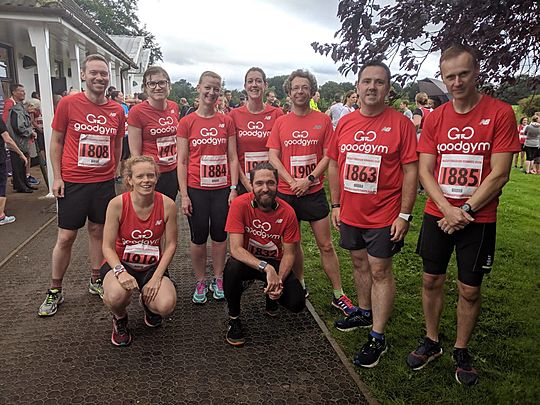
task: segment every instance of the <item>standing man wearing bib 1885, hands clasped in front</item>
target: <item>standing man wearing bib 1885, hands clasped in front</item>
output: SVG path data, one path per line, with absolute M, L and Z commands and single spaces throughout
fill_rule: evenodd
M 439 321 L 446 269 L 455 249 L 455 378 L 474 385 L 478 374 L 467 344 L 480 313 L 482 278 L 493 265 L 498 197 L 520 145 L 512 108 L 476 90 L 479 63 L 472 48 L 455 45 L 445 50 L 440 70 L 453 100 L 426 118 L 418 143 L 419 177 L 429 196 L 417 246 L 424 265 L 426 337 L 407 364 L 419 370 L 442 355 Z

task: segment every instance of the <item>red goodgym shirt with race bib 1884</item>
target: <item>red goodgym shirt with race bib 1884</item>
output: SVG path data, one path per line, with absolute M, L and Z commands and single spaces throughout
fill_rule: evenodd
M 234 123 L 228 115 L 204 118 L 189 114 L 178 123 L 179 138 L 189 141 L 189 187 L 215 190 L 231 185 L 227 159 L 228 141 L 234 134 Z

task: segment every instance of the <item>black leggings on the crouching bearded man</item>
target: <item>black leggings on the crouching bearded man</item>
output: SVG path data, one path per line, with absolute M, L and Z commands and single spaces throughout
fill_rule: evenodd
M 268 263 L 279 273 L 278 261 L 268 260 Z M 223 274 L 223 290 L 225 291 L 230 316 L 236 317 L 240 315 L 240 300 L 244 292 L 243 281 L 246 280 L 261 280 L 266 285 L 266 273 L 252 269 L 246 264 L 230 257 L 225 264 L 225 272 Z M 266 300 L 270 300 L 268 295 L 266 295 Z M 306 306 L 304 289 L 292 271 L 283 283 L 283 294 L 281 294 L 278 302 L 291 312 L 300 312 Z

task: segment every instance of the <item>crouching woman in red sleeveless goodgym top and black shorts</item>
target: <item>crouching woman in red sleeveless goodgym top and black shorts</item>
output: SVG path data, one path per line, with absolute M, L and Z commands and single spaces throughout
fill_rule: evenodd
M 167 266 L 176 251 L 176 205 L 155 191 L 159 168 L 149 156 L 129 158 L 124 181 L 130 191 L 109 203 L 103 231 L 103 302 L 113 314 L 111 342 L 131 343 L 127 306 L 141 292 L 144 322 L 155 328 L 176 305 Z

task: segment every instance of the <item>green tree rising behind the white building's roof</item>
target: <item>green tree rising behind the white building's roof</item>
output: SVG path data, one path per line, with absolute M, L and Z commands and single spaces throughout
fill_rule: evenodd
M 95 23 L 109 35 L 144 36 L 145 49 L 150 49 L 150 64 L 163 60 L 156 37 L 141 24 L 137 16 L 137 0 L 75 0 Z

